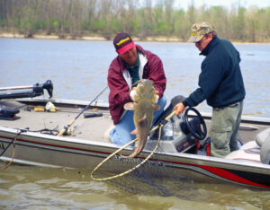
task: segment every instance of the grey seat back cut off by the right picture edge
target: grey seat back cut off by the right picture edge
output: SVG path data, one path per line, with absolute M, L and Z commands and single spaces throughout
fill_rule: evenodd
M 261 162 L 269 165 L 270 164 L 270 128 L 267 128 L 261 133 L 263 133 L 262 137 L 264 138 L 262 138 L 263 141 L 261 144 L 260 158 L 261 158 Z

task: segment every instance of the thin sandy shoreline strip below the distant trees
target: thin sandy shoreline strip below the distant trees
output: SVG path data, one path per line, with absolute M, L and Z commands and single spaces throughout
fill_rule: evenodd
M 34 34 L 31 38 L 25 37 L 23 34 L 19 33 L 0 33 L 0 38 L 8 38 L 8 39 L 58 39 L 58 40 L 92 40 L 92 41 L 112 41 L 112 39 L 105 39 L 101 36 L 83 36 L 81 38 L 72 38 L 71 36 L 65 36 L 65 38 L 61 39 L 58 35 L 44 35 L 44 34 Z M 179 39 L 176 37 L 147 37 L 146 39 L 139 39 L 138 37 L 132 37 L 134 41 L 141 41 L 141 42 L 181 42 L 187 43 L 183 39 Z M 269 41 L 239 41 L 239 40 L 230 40 L 233 43 L 253 43 L 253 44 L 267 44 Z

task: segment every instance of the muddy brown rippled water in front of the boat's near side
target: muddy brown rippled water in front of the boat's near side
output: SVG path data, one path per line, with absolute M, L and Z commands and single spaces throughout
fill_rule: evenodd
M 4 164 L 0 164 L 1 168 Z M 1 209 L 267 209 L 269 191 L 181 183 L 172 195 L 129 193 L 90 179 L 90 171 L 12 165 L 0 176 Z M 160 181 L 159 188 L 171 185 Z M 178 192 L 177 192 L 178 190 Z M 175 193 L 174 193 L 175 191 Z

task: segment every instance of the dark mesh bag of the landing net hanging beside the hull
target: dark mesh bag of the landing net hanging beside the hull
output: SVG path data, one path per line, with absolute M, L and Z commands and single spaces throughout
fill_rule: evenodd
M 117 155 L 117 162 L 114 162 L 116 160 L 114 158 L 104 162 L 101 168 L 94 173 L 94 177 L 106 179 L 115 176 L 104 182 L 110 187 L 132 195 L 179 197 L 184 200 L 193 200 L 194 197 L 197 197 L 196 200 L 199 200 L 200 193 L 194 185 L 193 178 L 167 167 L 164 162 L 159 161 L 164 158 L 163 152 L 162 148 L 158 146 L 156 152 L 143 164 L 140 163 L 145 159 L 125 158 Z M 138 165 L 139 167 L 135 170 L 118 176 L 127 169 Z M 110 168 L 117 170 L 118 173 L 103 172 Z

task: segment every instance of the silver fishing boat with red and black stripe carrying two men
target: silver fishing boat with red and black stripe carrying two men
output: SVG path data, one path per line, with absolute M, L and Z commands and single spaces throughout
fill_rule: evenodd
M 225 158 L 211 157 L 211 144 L 205 141 L 210 114 L 186 109 L 184 114 L 165 118 L 175 101 L 182 99 L 178 96 L 157 119 L 157 129 L 152 129 L 144 150 L 135 158 L 126 158 L 132 145 L 115 153 L 121 146 L 108 138 L 112 118 L 107 103 L 98 97 L 90 103 L 52 99 L 52 90 L 50 81 L 0 89 L 2 162 L 93 171 L 111 155 L 110 167 L 97 171 L 119 174 L 148 158 L 144 164 L 150 172 L 158 170 L 156 177 L 186 176 L 194 182 L 270 189 L 270 118 L 243 116 L 239 150 Z

